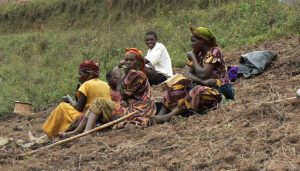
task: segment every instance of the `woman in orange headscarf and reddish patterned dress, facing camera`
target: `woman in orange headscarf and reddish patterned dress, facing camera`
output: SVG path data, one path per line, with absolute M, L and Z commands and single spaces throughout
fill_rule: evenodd
M 95 127 L 96 121 L 108 123 L 131 112 L 138 112 L 130 119 L 119 123 L 116 128 L 122 128 L 126 124 L 136 126 L 148 126 L 150 117 L 156 112 L 154 101 L 151 99 L 150 84 L 144 73 L 145 63 L 141 51 L 130 48 L 126 49 L 124 58 L 125 74 L 121 78 L 119 69 L 114 70 L 118 80 L 117 90 L 122 95 L 122 102 L 116 103 L 105 98 L 97 98 L 86 112 L 80 125 L 72 132 L 62 135 L 70 136 L 80 133 L 83 129 L 88 131 Z

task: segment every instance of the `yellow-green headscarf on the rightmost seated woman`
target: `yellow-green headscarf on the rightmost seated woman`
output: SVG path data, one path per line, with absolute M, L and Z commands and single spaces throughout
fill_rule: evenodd
M 197 37 L 204 39 L 207 43 L 211 44 L 212 46 L 215 46 L 215 47 L 218 46 L 214 33 L 211 30 L 209 30 L 208 28 L 206 28 L 206 27 L 195 28 L 195 27 L 191 26 L 190 30 Z

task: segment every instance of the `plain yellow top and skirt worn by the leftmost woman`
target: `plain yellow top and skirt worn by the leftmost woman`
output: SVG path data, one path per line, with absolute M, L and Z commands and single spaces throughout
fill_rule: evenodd
M 78 92 L 87 97 L 83 112 L 89 108 L 90 104 L 97 97 L 111 99 L 109 85 L 98 78 L 84 82 L 78 89 Z M 57 136 L 59 132 L 66 131 L 81 114 L 82 112 L 77 111 L 69 103 L 62 102 L 51 112 L 43 125 L 43 131 L 49 138 Z

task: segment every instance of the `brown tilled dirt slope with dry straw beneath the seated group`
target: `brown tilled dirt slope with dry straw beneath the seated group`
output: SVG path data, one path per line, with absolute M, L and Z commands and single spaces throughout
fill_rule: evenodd
M 236 100 L 207 115 L 95 133 L 22 160 L 11 144 L 0 150 L 0 170 L 300 170 L 300 105 L 265 103 L 300 88 L 299 45 L 300 37 L 287 37 L 226 53 L 230 64 L 254 50 L 278 58 L 262 75 L 236 82 Z M 49 112 L 2 118 L 0 136 L 26 140 Z

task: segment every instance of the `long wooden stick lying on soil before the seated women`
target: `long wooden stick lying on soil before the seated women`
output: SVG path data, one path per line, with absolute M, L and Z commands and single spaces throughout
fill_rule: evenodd
M 116 119 L 116 120 L 114 120 L 114 121 L 111 121 L 111 122 L 109 122 L 109 123 L 106 123 L 106 124 L 104 124 L 104 125 L 101 125 L 101 126 L 99 126 L 99 127 L 96 127 L 96 128 L 94 128 L 94 129 L 91 129 L 91 130 L 89 130 L 89 131 L 83 132 L 83 133 L 81 133 L 81 134 L 75 135 L 75 136 L 73 136 L 73 137 L 70 137 L 70 138 L 67 138 L 67 139 L 64 139 L 64 140 L 61 140 L 61 141 L 57 141 L 56 143 L 50 144 L 50 145 L 45 146 L 45 147 L 42 147 L 42 148 L 40 148 L 40 149 L 33 150 L 33 151 L 29 152 L 29 153 L 25 153 L 25 154 L 23 154 L 23 155 L 21 155 L 21 156 L 31 155 L 31 154 L 34 154 L 34 153 L 36 153 L 36 152 L 38 152 L 38 151 L 42 151 L 42 150 L 45 150 L 45 149 L 48 149 L 48 148 L 51 148 L 51 147 L 54 147 L 54 146 L 57 146 L 57 145 L 60 145 L 60 144 L 63 144 L 63 143 L 72 141 L 72 140 L 75 140 L 75 139 L 77 139 L 77 138 L 83 137 L 83 136 L 85 136 L 85 135 L 87 135 L 87 134 L 90 134 L 90 133 L 92 133 L 92 132 L 102 130 L 102 129 L 104 129 L 104 128 L 107 128 L 107 127 L 110 127 L 110 126 L 112 126 L 112 125 L 115 125 L 115 124 L 117 124 L 117 123 L 119 123 L 119 122 L 122 122 L 122 121 L 124 121 L 124 120 L 130 118 L 131 116 L 133 116 L 134 114 L 137 114 L 137 113 L 138 113 L 138 111 L 131 112 L 131 113 L 129 113 L 129 114 L 127 114 L 127 115 L 125 115 L 125 116 L 119 118 L 119 119 Z

